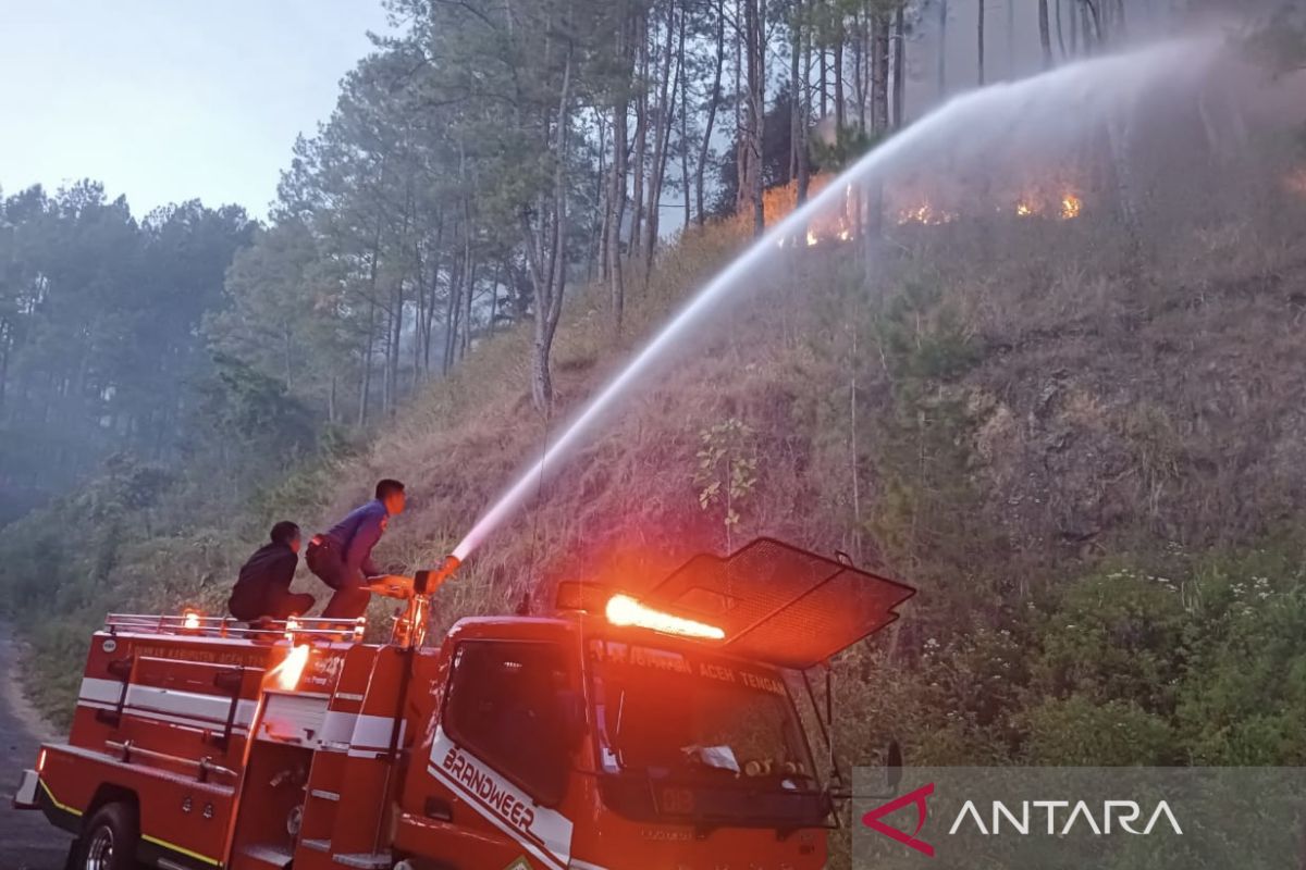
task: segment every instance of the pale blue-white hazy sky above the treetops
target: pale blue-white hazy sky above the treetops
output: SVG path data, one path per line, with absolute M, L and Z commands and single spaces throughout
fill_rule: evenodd
M 266 214 L 380 0 L 0 0 L 0 189 L 103 181 L 132 211 Z

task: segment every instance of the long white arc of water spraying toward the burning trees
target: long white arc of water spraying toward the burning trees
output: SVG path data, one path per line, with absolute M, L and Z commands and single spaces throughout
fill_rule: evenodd
M 835 179 L 815 198 L 763 235 L 743 254 L 713 278 L 662 330 L 635 356 L 633 360 L 613 378 L 575 416 L 563 434 L 528 467 L 503 496 L 477 520 L 471 531 L 453 549 L 453 554 L 440 569 L 441 579 L 451 575 L 477 547 L 507 517 L 537 492 L 539 481 L 549 475 L 558 460 L 564 457 L 580 438 L 589 432 L 601 415 L 622 397 L 631 385 L 646 374 L 674 343 L 684 338 L 692 326 L 717 305 L 750 286 L 741 280 L 761 263 L 768 256 L 781 249 L 785 240 L 803 232 L 804 226 L 823 209 L 838 205 L 853 184 L 865 181 L 865 176 L 892 167 L 893 163 L 913 151 L 926 150 L 940 141 L 949 147 L 965 149 L 976 155 L 982 149 L 994 145 L 991 138 L 1011 141 L 1012 134 L 1021 133 L 1021 123 L 1027 125 L 1032 116 L 1042 129 L 1028 129 L 1028 136 L 1045 134 L 1046 128 L 1062 117 L 1062 123 L 1077 125 L 1080 132 L 1084 119 L 1109 116 L 1122 107 L 1132 106 L 1132 99 L 1161 76 L 1173 77 L 1175 69 L 1192 74 L 1199 67 L 1195 57 L 1211 55 L 1212 46 L 1218 40 L 1175 40 L 1123 55 L 1096 57 L 1077 64 L 1027 78 L 1013 83 L 998 83 L 955 98 L 939 110 L 921 119 L 893 138 L 865 155 L 852 168 Z M 1199 53 L 1200 52 L 1200 53 Z M 1067 106 L 1070 103 L 1070 106 Z M 1037 112 L 1038 108 L 1057 110 Z M 986 138 L 977 130 L 991 129 L 993 137 Z

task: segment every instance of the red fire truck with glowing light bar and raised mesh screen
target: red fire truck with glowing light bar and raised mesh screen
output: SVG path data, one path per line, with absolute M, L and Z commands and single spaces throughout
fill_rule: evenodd
M 440 579 L 379 584 L 407 600 L 385 644 L 353 622 L 110 616 L 69 740 L 16 803 L 76 836 L 77 870 L 824 865 L 808 670 L 913 590 L 764 539 L 637 595 L 563 583 L 555 616 L 427 646 Z

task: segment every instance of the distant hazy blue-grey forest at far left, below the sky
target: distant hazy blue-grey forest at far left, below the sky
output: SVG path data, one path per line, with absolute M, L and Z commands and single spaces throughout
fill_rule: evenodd
M 0 523 L 115 454 L 195 447 L 200 326 L 252 235 L 197 202 L 137 220 L 91 183 L 0 200 Z

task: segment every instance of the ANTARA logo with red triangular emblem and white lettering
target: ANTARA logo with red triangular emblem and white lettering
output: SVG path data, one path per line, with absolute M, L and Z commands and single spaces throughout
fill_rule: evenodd
M 929 783 L 914 792 L 883 803 L 865 814 L 862 824 L 909 849 L 934 857 L 934 847 L 921 839 L 921 830 L 925 828 L 930 813 L 929 798 L 934 794 L 934 789 L 935 784 Z M 1094 813 L 1096 805 L 1089 806 L 1087 801 L 1021 801 L 1019 805 L 989 801 L 987 803 L 987 813 L 982 813 L 976 801 L 968 800 L 963 803 L 948 828 L 948 836 L 964 831 L 974 831 L 983 836 L 1000 833 L 1030 836 L 1043 832 L 1049 836 L 1066 836 L 1075 831 L 1091 831 L 1094 835 L 1105 836 L 1123 831 L 1141 836 L 1152 833 L 1158 827 L 1169 828 L 1175 835 L 1183 836 L 1178 818 L 1165 801 L 1160 801 L 1148 814 L 1144 814 L 1144 807 L 1136 801 L 1102 801 L 1100 813 Z M 916 828 L 912 833 L 883 822 L 884 817 L 908 806 L 916 809 Z M 1145 823 L 1141 823 L 1143 818 L 1147 818 Z

